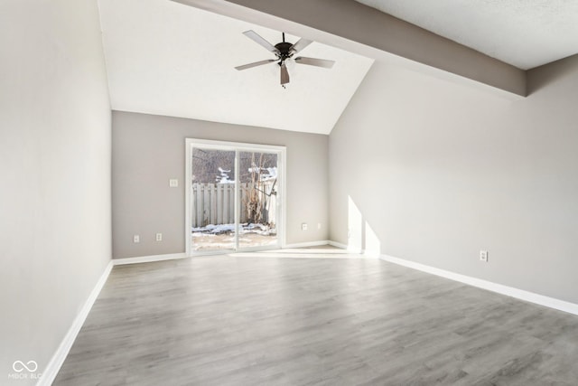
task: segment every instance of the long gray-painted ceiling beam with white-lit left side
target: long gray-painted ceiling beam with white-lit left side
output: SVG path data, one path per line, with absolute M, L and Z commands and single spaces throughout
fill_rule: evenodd
M 508 94 L 527 95 L 526 71 L 353 0 L 173 1 L 377 60 L 406 59 Z

